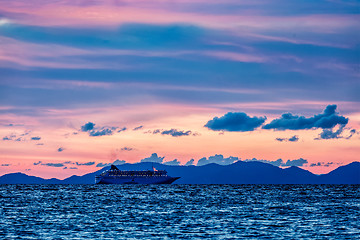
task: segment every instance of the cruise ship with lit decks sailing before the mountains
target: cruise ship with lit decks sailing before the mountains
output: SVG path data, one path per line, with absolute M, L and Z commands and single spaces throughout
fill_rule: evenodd
M 115 165 L 95 176 L 96 184 L 171 184 L 180 177 L 170 177 L 165 170 L 123 171 Z

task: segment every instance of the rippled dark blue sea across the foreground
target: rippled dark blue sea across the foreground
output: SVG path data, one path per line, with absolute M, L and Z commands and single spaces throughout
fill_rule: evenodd
M 359 185 L 0 185 L 0 238 L 358 239 Z

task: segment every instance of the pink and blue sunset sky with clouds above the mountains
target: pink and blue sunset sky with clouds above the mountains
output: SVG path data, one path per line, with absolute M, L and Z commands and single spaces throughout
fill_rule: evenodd
M 0 0 L 0 175 L 360 161 L 360 1 Z

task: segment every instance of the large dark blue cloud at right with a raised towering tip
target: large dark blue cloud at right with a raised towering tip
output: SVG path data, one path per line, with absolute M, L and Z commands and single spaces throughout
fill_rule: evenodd
M 306 118 L 304 116 L 284 113 L 280 118 L 272 120 L 264 125 L 263 129 L 275 130 L 304 130 L 312 128 L 328 129 L 336 125 L 346 125 L 348 118 L 340 116 L 336 111 L 336 105 L 328 105 L 323 113 Z

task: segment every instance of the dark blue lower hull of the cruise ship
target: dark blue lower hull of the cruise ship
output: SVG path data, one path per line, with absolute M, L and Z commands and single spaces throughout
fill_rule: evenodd
M 96 176 L 96 184 L 171 184 L 179 177 L 113 177 Z

